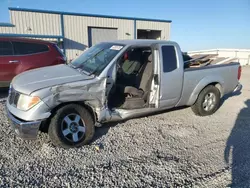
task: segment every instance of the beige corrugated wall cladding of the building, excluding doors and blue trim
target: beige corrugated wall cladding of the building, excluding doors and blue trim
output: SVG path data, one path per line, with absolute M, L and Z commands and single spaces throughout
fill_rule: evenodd
M 26 35 L 62 36 L 60 12 L 36 12 L 11 10 L 11 23 L 14 27 L 0 26 L 0 33 Z M 85 15 L 63 14 L 64 47 L 68 59 L 80 55 L 89 45 L 88 27 L 117 29 L 118 39 L 134 39 L 134 19 L 92 17 Z M 136 21 L 136 29 L 161 31 L 161 39 L 169 39 L 170 23 Z M 137 32 L 137 31 L 136 31 Z M 46 40 L 46 39 L 44 39 Z

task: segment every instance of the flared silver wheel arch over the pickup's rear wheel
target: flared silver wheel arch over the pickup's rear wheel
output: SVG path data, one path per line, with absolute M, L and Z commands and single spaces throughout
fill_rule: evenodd
M 189 97 L 187 105 L 193 105 L 198 98 L 200 92 L 208 85 L 214 84 L 223 96 L 224 93 L 224 80 L 221 76 L 206 76 L 199 81 L 199 83 L 194 88 L 192 94 Z

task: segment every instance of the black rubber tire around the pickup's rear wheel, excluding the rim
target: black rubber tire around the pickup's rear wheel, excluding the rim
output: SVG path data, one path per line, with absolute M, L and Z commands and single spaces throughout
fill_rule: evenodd
M 205 102 L 205 97 L 211 93 L 215 95 L 214 106 L 211 107 L 211 109 L 209 110 L 205 110 L 205 108 L 203 107 L 203 103 Z M 215 86 L 209 85 L 200 92 L 196 102 L 192 105 L 191 109 L 198 116 L 209 116 L 215 113 L 218 110 L 219 106 L 220 106 L 220 91 Z

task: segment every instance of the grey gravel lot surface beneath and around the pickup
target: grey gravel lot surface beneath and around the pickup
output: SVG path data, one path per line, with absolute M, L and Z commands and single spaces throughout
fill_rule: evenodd
M 250 187 L 248 75 L 244 67 L 242 93 L 225 97 L 210 117 L 185 108 L 133 119 L 97 128 L 92 144 L 70 150 L 55 148 L 45 133 L 35 141 L 14 136 L 0 102 L 0 185 Z

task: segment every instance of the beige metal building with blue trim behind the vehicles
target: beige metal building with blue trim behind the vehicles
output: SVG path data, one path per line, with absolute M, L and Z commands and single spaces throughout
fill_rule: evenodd
M 68 59 L 106 40 L 170 37 L 170 20 L 9 8 L 10 24 L 0 23 L 0 36 L 32 37 L 59 43 Z

